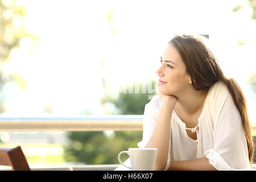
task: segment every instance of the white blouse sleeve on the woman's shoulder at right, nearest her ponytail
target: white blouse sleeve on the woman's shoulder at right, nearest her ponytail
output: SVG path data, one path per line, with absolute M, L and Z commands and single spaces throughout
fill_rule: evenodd
M 214 147 L 204 156 L 217 170 L 251 169 L 241 115 L 231 94 L 222 90 L 213 103 Z

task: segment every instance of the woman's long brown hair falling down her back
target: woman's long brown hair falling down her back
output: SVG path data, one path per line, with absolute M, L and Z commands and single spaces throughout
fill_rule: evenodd
M 227 86 L 242 118 L 251 163 L 254 146 L 245 96 L 240 85 L 233 78 L 226 78 L 222 73 L 216 58 L 203 40 L 203 37 L 200 38 L 198 35 L 175 35 L 168 44 L 172 44 L 179 51 L 185 63 L 186 71 L 191 76 L 192 85 L 196 90 L 208 90 L 210 86 L 220 80 Z

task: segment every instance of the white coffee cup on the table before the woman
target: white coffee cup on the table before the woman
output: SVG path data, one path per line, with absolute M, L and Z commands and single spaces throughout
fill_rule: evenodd
M 122 151 L 118 154 L 119 163 L 132 169 L 133 171 L 153 171 L 155 168 L 157 148 L 129 148 L 128 151 Z M 126 153 L 130 156 L 131 167 L 126 166 L 120 159 L 120 156 Z

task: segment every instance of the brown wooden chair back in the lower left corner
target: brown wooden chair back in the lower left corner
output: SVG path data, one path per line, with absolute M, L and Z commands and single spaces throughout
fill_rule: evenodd
M 14 171 L 31 170 L 20 146 L 15 148 L 0 147 L 0 165 L 11 166 Z

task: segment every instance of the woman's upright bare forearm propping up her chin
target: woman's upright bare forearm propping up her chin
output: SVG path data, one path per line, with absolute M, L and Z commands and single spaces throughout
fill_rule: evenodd
M 170 122 L 172 110 L 176 104 L 175 98 L 164 99 L 159 112 L 158 122 L 148 141 L 147 148 L 158 148 L 155 170 L 163 170 L 168 158 Z

